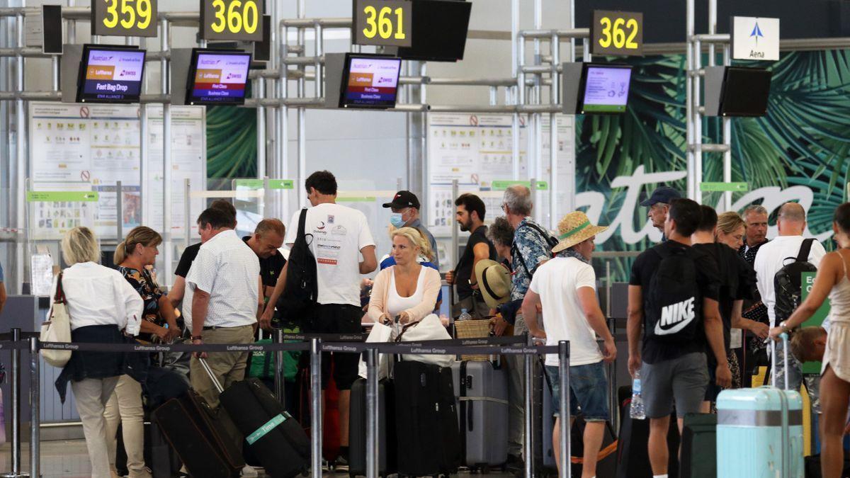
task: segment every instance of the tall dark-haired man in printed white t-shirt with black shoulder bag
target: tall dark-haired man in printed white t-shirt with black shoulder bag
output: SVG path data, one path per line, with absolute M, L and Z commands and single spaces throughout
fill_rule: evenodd
M 310 174 L 304 187 L 313 207 L 294 213 L 286 228 L 285 242 L 292 250 L 269 304 L 276 304 L 285 320 L 303 319 L 309 333 L 360 333 L 361 275 L 377 269 L 375 241 L 365 214 L 337 204 L 337 179 L 329 171 Z M 290 270 L 297 280 L 289 276 Z M 263 327 L 269 327 L 271 309 L 263 313 Z M 321 359 L 322 390 L 330 382 L 331 361 L 339 389 L 337 466 L 348 466 L 348 407 L 358 358 L 323 353 Z

